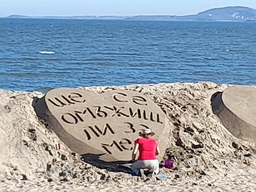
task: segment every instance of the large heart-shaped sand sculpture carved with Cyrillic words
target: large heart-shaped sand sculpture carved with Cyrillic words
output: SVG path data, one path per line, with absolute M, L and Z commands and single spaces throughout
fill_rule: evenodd
M 90 158 L 130 160 L 134 140 L 145 128 L 155 132 L 162 156 L 168 147 L 166 115 L 137 91 L 53 89 L 36 102 L 35 110 L 69 148 Z

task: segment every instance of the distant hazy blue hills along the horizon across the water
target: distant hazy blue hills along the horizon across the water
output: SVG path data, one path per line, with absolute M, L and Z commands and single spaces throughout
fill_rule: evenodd
M 136 15 L 136 16 L 24 16 L 10 15 L 7 18 L 44 19 L 129 19 L 129 20 L 205 20 L 205 21 L 256 21 L 256 10 L 250 7 L 222 7 L 199 12 L 196 15 Z

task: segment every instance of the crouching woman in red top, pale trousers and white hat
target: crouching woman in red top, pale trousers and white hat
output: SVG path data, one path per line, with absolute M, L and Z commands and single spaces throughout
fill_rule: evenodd
M 131 170 L 137 175 L 142 171 L 143 168 L 154 169 L 154 173 L 159 173 L 159 162 L 156 158 L 156 155 L 159 155 L 159 146 L 158 142 L 154 139 L 151 139 L 151 136 L 155 135 L 150 129 L 143 130 L 139 133 L 139 138 L 135 140 L 134 149 L 132 153 Z M 139 158 L 135 161 L 139 149 Z M 141 173 L 142 175 L 143 173 Z

